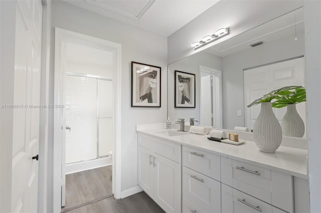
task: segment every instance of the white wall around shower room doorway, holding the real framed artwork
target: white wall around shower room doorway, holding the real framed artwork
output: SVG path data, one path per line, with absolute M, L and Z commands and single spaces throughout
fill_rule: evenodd
M 122 45 L 121 190 L 137 186 L 136 124 L 165 122 L 167 118 L 167 38 L 62 1 L 53 1 L 52 27 L 68 29 Z M 162 67 L 161 108 L 130 107 L 131 61 Z M 53 72 L 52 67 L 51 73 Z M 51 80 L 53 81 L 53 77 Z M 50 155 L 52 151 L 51 147 Z

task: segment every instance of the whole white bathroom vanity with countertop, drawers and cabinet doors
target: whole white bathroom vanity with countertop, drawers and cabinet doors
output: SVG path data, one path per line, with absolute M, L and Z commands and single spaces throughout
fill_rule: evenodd
M 138 185 L 166 212 L 309 212 L 305 148 L 264 153 L 164 127 L 137 125 Z

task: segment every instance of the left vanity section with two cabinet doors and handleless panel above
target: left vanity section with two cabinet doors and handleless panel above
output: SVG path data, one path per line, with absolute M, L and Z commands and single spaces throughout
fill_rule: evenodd
M 138 133 L 138 185 L 166 212 L 181 212 L 181 145 Z

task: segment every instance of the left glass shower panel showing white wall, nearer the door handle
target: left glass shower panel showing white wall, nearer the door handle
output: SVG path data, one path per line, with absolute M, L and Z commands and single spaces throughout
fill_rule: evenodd
M 67 75 L 66 163 L 97 158 L 97 79 Z

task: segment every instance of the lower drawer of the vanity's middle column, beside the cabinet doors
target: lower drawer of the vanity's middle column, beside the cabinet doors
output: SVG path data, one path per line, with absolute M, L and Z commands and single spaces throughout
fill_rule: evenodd
M 221 212 L 221 183 L 183 166 L 183 211 Z

